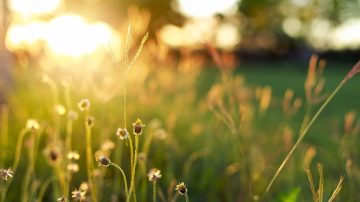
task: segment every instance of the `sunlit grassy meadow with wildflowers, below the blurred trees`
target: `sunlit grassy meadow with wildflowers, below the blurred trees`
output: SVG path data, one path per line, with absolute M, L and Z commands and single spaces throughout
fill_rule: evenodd
M 210 52 L 212 62 L 153 41 L 132 63 L 137 47 L 124 60 L 12 69 L 0 119 L 0 168 L 13 171 L 0 181 L 3 202 L 360 201 L 357 77 L 265 192 L 354 64 L 242 63 Z

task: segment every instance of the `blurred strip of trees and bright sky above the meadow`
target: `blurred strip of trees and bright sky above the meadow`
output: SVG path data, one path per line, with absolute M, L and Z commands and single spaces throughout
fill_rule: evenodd
M 3 0 L 1 8 L 2 46 L 36 56 L 91 54 L 118 43 L 129 21 L 135 35 L 148 30 L 173 50 L 208 41 L 243 59 L 351 60 L 360 47 L 358 0 Z

